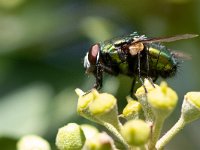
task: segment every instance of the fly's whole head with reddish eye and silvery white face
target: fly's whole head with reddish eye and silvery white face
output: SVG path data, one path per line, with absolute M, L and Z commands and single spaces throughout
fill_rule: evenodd
M 96 70 L 96 65 L 99 61 L 100 45 L 93 45 L 84 57 L 84 68 L 86 73 L 93 73 Z

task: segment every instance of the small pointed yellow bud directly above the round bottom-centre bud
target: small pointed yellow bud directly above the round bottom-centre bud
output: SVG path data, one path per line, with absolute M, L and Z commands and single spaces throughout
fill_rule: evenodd
M 127 120 L 139 119 L 143 114 L 142 105 L 131 97 L 127 97 L 127 101 L 128 104 L 123 109 L 123 117 Z

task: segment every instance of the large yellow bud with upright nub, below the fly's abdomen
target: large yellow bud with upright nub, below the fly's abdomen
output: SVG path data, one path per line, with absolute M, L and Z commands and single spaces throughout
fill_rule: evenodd
M 169 88 L 166 82 L 161 82 L 160 88 L 150 91 L 147 94 L 147 98 L 152 108 L 159 111 L 158 115 L 160 111 L 165 111 L 166 115 L 172 112 L 178 101 L 176 92 Z

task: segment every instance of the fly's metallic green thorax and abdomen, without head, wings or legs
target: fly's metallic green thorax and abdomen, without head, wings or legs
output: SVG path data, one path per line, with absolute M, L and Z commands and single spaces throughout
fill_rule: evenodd
M 100 43 L 100 55 L 105 66 L 111 68 L 115 74 L 135 76 L 138 73 L 138 57 L 131 56 L 129 53 L 119 54 L 122 46 L 131 43 L 140 36 L 134 32 L 128 36 L 116 38 Z M 146 38 L 146 37 L 142 37 Z M 148 60 L 146 54 L 148 53 Z M 145 43 L 144 50 L 141 51 L 141 75 L 157 78 L 173 76 L 176 72 L 177 61 L 173 54 L 159 43 Z M 148 64 L 147 64 L 148 63 Z M 147 70 L 149 65 L 149 71 Z M 148 72 L 147 72 L 148 71 Z

